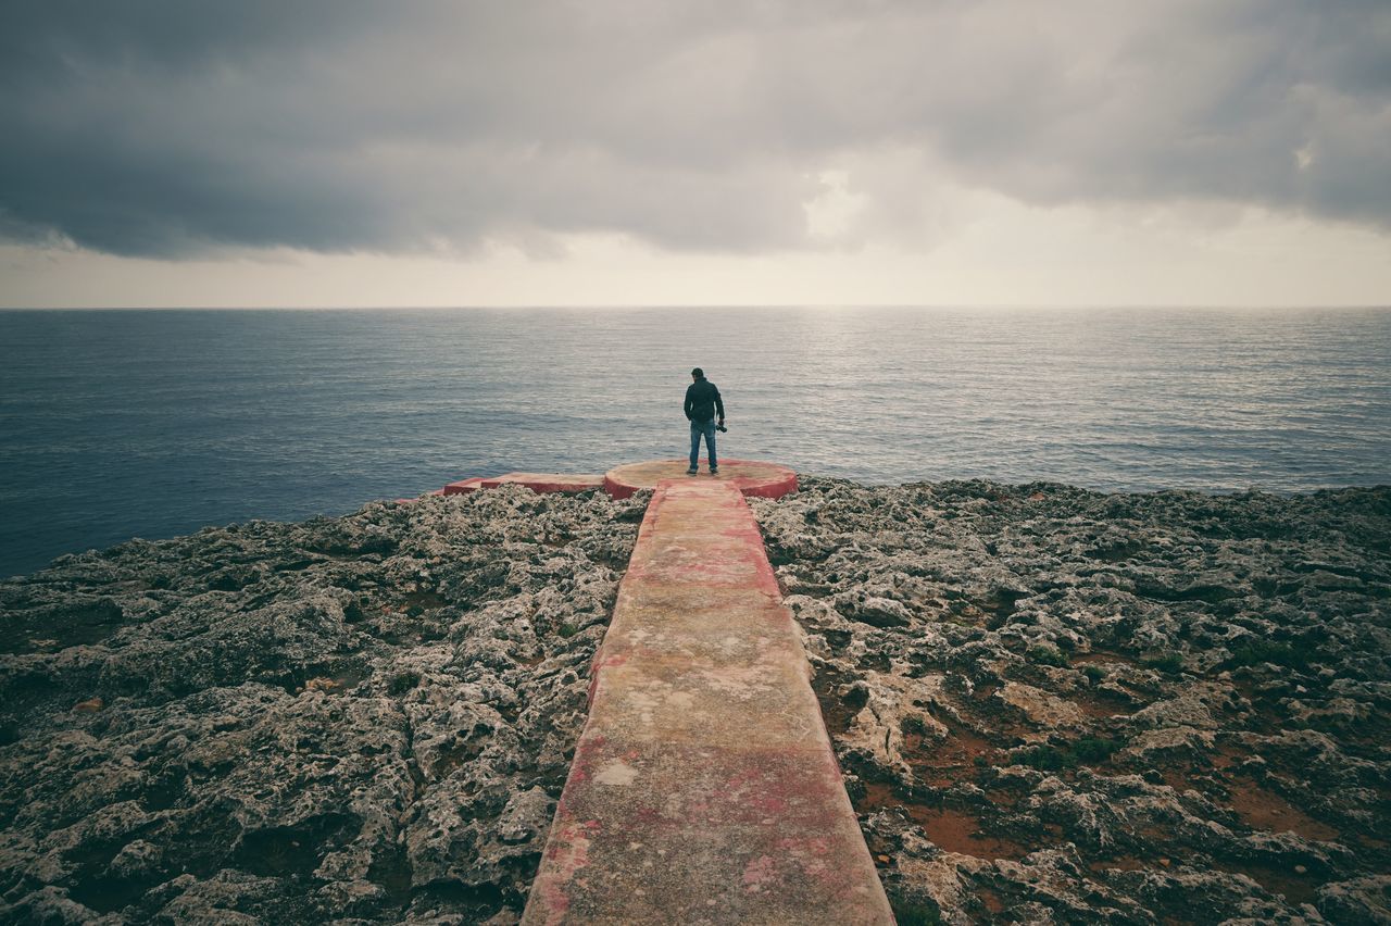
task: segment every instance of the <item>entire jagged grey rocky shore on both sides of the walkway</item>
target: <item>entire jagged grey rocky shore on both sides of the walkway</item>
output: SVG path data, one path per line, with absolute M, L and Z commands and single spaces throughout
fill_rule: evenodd
M 515 922 L 645 503 L 0 583 L 0 922 Z M 1391 489 L 751 505 L 900 923 L 1391 922 Z

